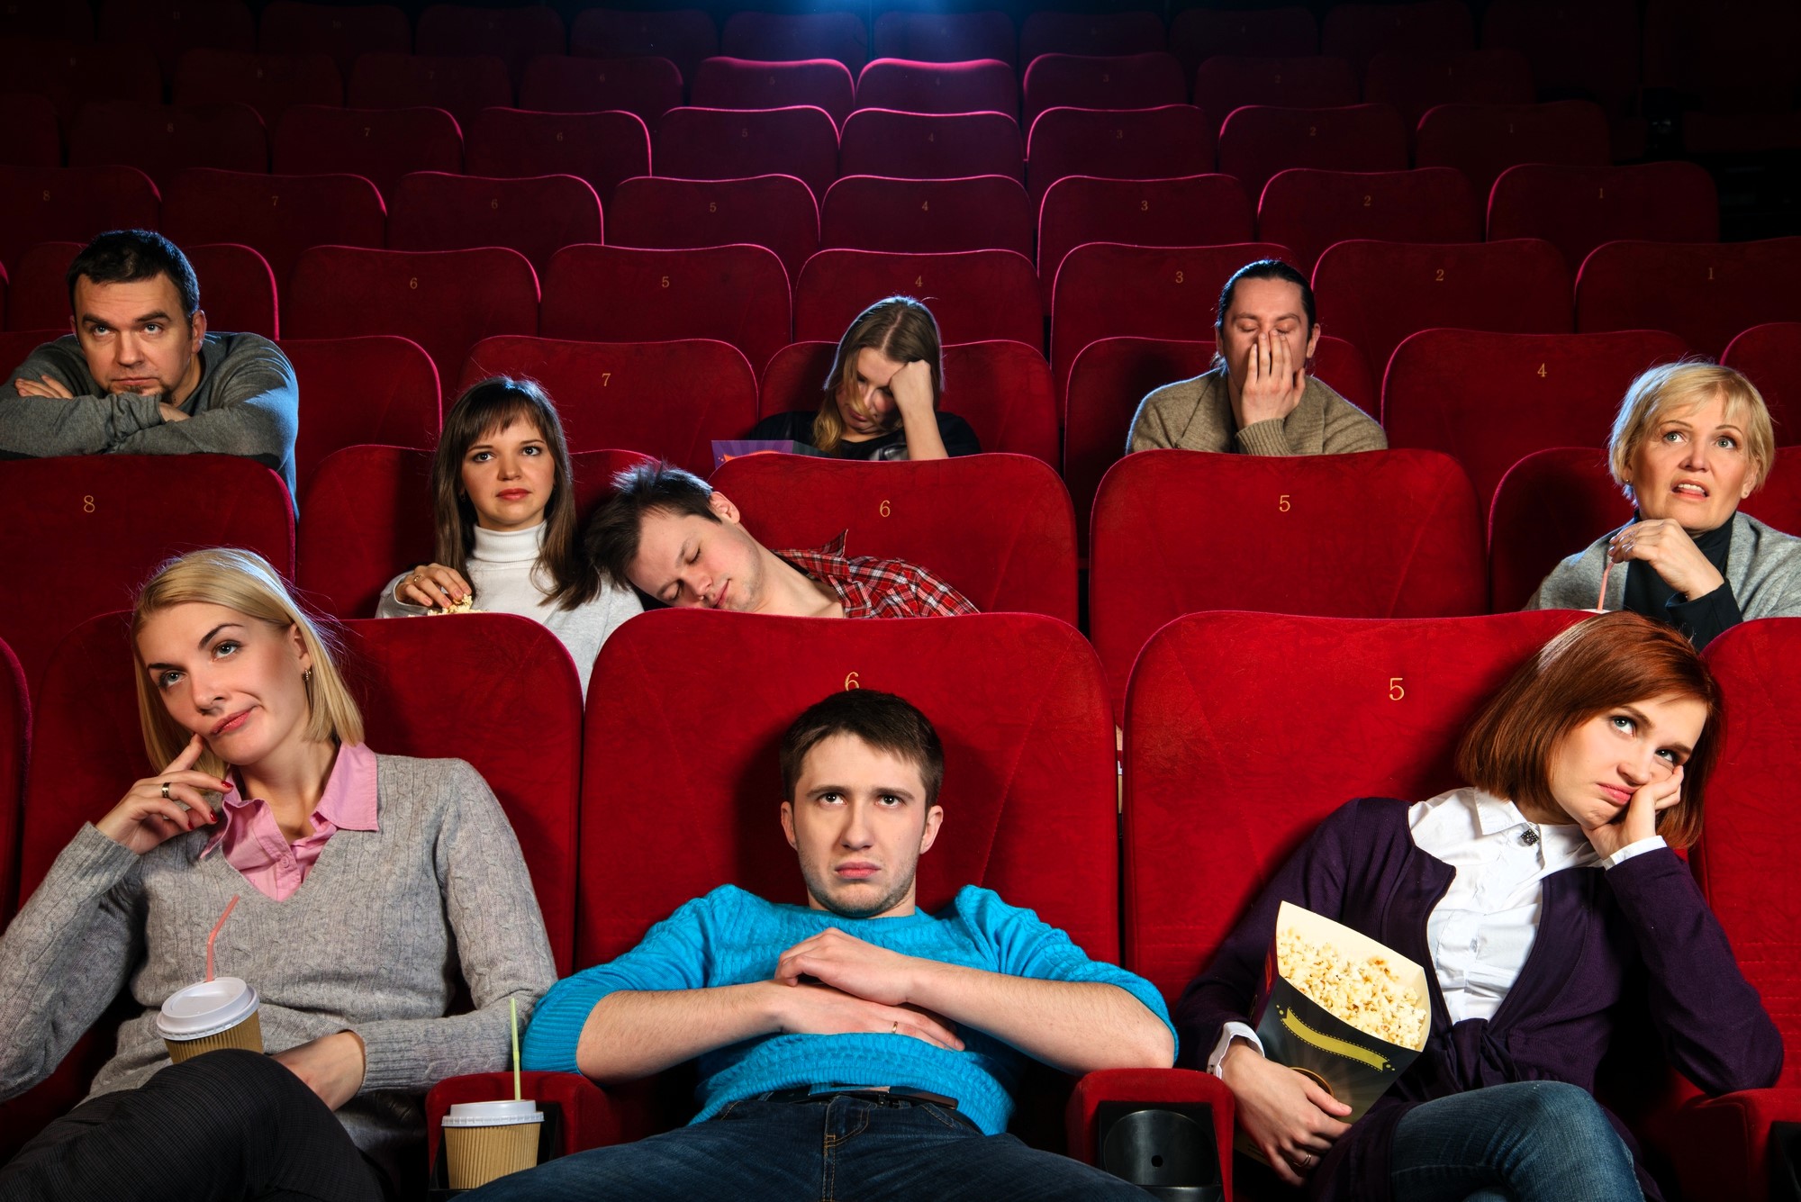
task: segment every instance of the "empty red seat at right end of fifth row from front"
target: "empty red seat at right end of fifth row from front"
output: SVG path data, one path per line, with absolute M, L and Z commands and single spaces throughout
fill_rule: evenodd
M 1711 243 L 1720 238 L 1713 176 L 1691 162 L 1630 167 L 1507 167 L 1488 200 L 1489 238 L 1543 238 L 1570 270 L 1601 243 Z

